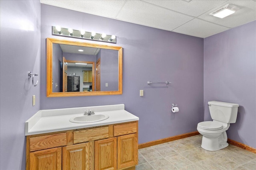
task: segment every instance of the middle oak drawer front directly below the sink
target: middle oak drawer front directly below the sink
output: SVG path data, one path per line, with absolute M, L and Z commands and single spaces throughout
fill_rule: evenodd
M 95 141 L 109 137 L 109 130 L 107 127 L 97 127 L 93 129 L 86 129 L 81 131 L 74 131 L 74 144 L 88 141 Z

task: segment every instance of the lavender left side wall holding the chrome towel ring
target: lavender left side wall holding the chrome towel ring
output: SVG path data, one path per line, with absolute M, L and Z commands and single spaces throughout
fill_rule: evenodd
M 40 88 L 45 88 L 40 80 L 40 1 L 1 0 L 0 12 L 0 169 L 24 170 L 25 121 L 40 109 Z M 28 71 L 38 73 L 36 87 Z

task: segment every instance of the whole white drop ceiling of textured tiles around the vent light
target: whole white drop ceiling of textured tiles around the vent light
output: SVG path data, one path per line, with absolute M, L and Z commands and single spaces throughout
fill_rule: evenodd
M 186 0 L 40 0 L 40 2 L 195 37 L 207 37 L 256 20 L 256 0 L 191 0 L 190 2 Z M 235 4 L 240 10 L 223 19 L 209 15 L 226 4 Z

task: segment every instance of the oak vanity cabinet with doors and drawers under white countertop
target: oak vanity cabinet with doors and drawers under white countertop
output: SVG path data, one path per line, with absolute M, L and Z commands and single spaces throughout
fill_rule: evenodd
M 138 121 L 27 136 L 26 170 L 124 170 L 138 164 Z

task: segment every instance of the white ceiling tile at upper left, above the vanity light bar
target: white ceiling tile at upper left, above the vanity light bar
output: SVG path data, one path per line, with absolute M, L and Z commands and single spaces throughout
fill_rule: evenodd
M 126 1 L 123 0 L 40 0 L 43 4 L 50 4 L 70 10 L 115 18 Z

